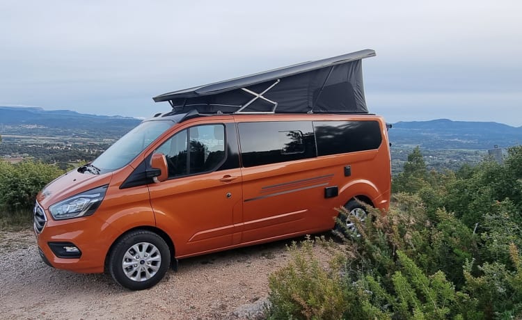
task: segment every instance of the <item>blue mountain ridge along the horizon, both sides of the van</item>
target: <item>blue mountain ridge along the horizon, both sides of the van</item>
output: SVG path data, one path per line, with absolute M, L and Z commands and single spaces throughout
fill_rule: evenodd
M 140 119 L 91 115 L 71 110 L 47 111 L 33 106 L 0 106 L 0 134 L 61 134 L 119 138 Z M 28 127 L 35 125 L 35 127 Z M 522 144 L 522 127 L 499 122 L 434 119 L 399 121 L 388 131 L 393 147 L 419 145 L 425 149 L 488 150 L 494 145 Z

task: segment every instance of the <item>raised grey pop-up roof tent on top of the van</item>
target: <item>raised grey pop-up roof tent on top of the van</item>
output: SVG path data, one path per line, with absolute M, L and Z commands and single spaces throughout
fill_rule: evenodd
M 361 60 L 365 49 L 205 86 L 165 93 L 175 113 L 368 113 Z

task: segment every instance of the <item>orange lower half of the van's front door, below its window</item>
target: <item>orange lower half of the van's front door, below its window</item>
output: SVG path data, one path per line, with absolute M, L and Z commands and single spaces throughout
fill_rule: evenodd
M 226 175 L 237 179 L 221 182 Z M 239 168 L 150 184 L 149 189 L 157 227 L 171 236 L 176 256 L 232 245 L 237 232 L 233 209 L 242 200 Z

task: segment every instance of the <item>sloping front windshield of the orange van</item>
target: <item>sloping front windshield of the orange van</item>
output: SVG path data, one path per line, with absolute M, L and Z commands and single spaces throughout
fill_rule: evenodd
M 93 161 L 92 166 L 100 168 L 103 173 L 122 168 L 145 150 L 152 141 L 155 141 L 157 137 L 172 127 L 174 123 L 172 121 L 141 122 L 138 127 L 129 131 L 104 153 L 100 154 L 100 157 Z

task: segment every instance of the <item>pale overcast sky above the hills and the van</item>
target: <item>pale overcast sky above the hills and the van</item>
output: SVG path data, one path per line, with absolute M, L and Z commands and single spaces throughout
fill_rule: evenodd
M 0 105 L 148 117 L 152 97 L 374 49 L 388 122 L 522 126 L 522 1 L 0 2 Z

